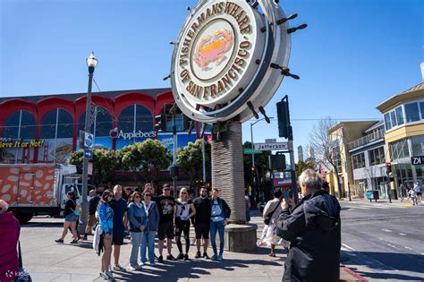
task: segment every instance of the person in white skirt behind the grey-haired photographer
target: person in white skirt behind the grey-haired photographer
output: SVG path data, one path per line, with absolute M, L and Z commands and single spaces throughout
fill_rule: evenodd
M 258 240 L 258 246 L 267 245 L 271 247 L 270 257 L 276 257 L 276 245 L 283 245 L 285 252 L 288 253 L 289 243 L 284 239 L 276 235 L 276 221 L 281 212 L 281 197 L 283 193 L 281 190 L 276 190 L 274 192 L 274 200 L 267 201 L 267 205 L 264 208 L 263 217 L 264 217 L 264 229 L 262 230 L 262 235 Z

